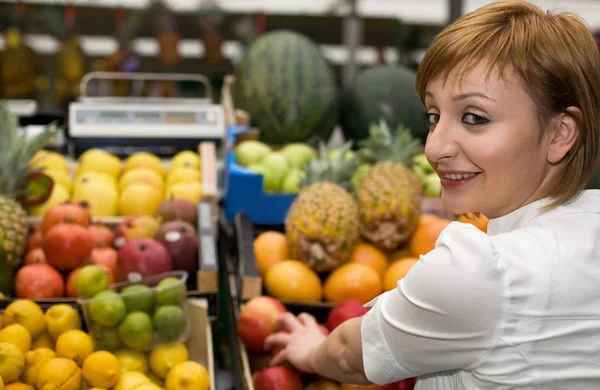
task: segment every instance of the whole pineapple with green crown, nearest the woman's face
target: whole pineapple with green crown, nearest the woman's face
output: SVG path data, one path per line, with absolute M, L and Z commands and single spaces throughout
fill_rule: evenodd
M 408 242 L 421 215 L 423 189 L 408 167 L 421 145 L 408 129 L 392 135 L 383 121 L 370 133 L 359 154 L 374 165 L 355 181 L 360 233 L 380 249 L 392 251 Z

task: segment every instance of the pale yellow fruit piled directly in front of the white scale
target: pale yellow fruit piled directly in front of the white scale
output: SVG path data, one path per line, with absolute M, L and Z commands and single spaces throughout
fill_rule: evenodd
M 29 162 L 54 180 L 50 198 L 31 207 L 33 216 L 66 201 L 86 202 L 92 217 L 152 215 L 164 199 L 202 197 L 200 156 L 192 151 L 176 154 L 168 164 L 150 153 L 137 152 L 124 161 L 101 149 L 90 149 L 77 160 L 74 175 L 66 158 L 42 150 Z

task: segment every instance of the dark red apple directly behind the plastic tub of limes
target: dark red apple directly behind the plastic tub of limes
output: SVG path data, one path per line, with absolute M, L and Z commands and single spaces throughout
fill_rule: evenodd
M 172 270 L 171 256 L 160 242 L 151 238 L 137 238 L 119 249 L 115 277 L 117 281 L 123 281 L 132 272 L 145 277 Z

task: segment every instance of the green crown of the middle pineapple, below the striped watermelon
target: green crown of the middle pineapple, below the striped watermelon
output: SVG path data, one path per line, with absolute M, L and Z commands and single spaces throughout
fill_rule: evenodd
M 337 184 L 347 191 L 352 191 L 352 176 L 360 164 L 358 156 L 352 152 L 352 141 L 346 142 L 337 148 L 335 155 L 331 154 L 325 144 L 319 142 L 318 156 L 304 165 L 305 175 L 301 187 L 311 184 L 330 182 Z

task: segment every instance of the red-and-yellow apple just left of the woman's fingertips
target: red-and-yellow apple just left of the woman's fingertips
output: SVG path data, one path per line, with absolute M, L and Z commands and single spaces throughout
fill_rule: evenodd
M 267 296 L 254 297 L 242 307 L 237 333 L 250 352 L 265 352 L 265 339 L 275 332 L 277 318 L 286 311 L 281 302 Z

